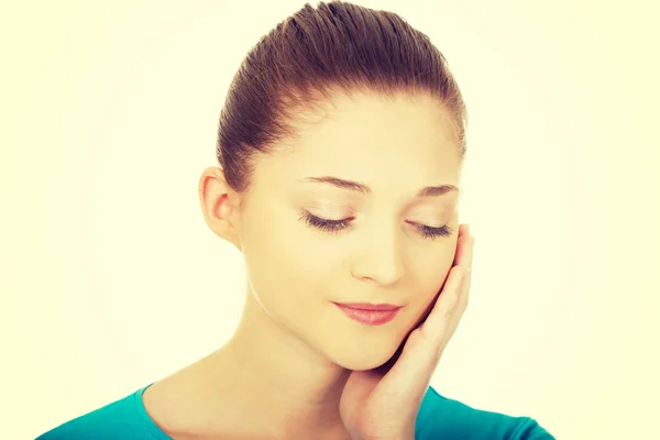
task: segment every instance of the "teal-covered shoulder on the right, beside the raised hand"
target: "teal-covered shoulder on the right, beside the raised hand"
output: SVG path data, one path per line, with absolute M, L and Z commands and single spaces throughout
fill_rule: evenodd
M 472 408 L 429 387 L 417 415 L 415 438 L 553 440 L 529 417 L 512 417 Z

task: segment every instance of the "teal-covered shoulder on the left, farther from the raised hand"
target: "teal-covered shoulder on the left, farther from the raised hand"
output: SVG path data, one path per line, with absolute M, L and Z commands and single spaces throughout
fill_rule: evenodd
M 59 425 L 36 440 L 167 440 L 140 405 L 145 388 Z

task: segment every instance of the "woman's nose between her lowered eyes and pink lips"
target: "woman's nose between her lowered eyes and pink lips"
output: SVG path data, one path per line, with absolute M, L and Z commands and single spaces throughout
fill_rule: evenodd
M 353 260 L 351 273 L 359 279 L 371 279 L 380 286 L 389 286 L 405 272 L 398 229 L 372 228 L 361 243 L 362 252 Z

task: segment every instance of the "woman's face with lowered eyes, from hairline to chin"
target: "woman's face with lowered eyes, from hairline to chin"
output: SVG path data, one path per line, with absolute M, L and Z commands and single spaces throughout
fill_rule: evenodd
M 239 240 L 267 316 L 332 362 L 369 370 L 395 353 L 452 265 L 459 191 L 419 191 L 459 187 L 461 160 L 449 114 L 430 98 L 337 103 L 290 153 L 260 158 Z M 334 302 L 403 308 L 367 326 Z

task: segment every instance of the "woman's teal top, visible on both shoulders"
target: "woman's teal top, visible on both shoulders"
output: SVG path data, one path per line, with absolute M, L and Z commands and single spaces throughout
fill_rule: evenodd
M 151 384 L 150 384 L 151 385 Z M 69 420 L 36 440 L 172 440 L 142 402 L 148 386 Z M 416 440 L 556 440 L 529 417 L 474 409 L 429 387 L 417 414 Z

